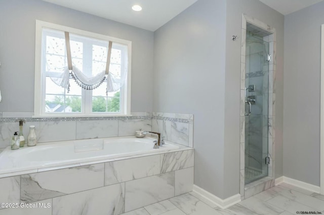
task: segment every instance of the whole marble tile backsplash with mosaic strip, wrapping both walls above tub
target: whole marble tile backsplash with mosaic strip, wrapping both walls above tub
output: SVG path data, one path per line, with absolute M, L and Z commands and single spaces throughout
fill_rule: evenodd
M 155 112 L 133 112 L 118 117 L 46 117 L 33 118 L 32 112 L 0 112 L 0 149 L 10 145 L 19 120 L 25 120 L 23 134 L 35 125 L 37 143 L 90 138 L 134 136 L 143 131 L 161 133 L 165 140 L 193 147 L 193 115 Z

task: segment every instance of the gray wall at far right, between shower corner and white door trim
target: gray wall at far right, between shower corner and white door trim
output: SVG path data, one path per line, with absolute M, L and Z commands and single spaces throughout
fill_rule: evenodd
M 285 16 L 284 176 L 319 186 L 324 2 Z

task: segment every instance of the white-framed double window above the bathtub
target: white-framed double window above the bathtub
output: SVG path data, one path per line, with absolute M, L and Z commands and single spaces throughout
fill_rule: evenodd
M 73 76 L 68 70 L 65 32 L 69 32 L 73 71 L 81 72 L 87 81 L 104 75 L 110 50 L 109 74 L 94 89 L 82 87 L 76 73 Z M 128 40 L 36 21 L 35 116 L 130 114 L 130 53 Z

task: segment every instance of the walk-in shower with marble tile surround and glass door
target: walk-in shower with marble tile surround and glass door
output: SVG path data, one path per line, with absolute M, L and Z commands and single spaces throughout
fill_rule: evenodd
M 250 60 L 264 61 L 265 58 L 260 58 L 261 49 L 248 48 L 247 41 L 247 26 L 249 29 L 253 28 L 260 33 L 269 34 L 263 36 L 262 40 L 269 43 L 268 53 L 272 56 L 269 65 L 262 66 L 258 62 L 249 62 Z M 255 42 L 253 40 L 252 42 Z M 259 53 L 259 54 L 258 54 Z M 269 183 L 273 178 L 274 173 L 274 121 L 275 121 L 275 70 L 276 70 L 276 30 L 245 14 L 242 14 L 242 28 L 241 28 L 241 84 L 240 84 L 240 195 L 245 198 L 250 195 L 257 194 L 260 190 L 265 190 L 273 183 Z M 263 77 L 263 78 L 262 78 Z M 252 105 L 252 114 L 245 116 L 246 96 L 246 79 L 249 79 L 250 84 L 256 84 L 256 91 L 253 92 L 256 96 L 256 104 Z M 250 92 L 252 93 L 252 92 Z M 266 107 L 266 108 L 261 108 Z M 253 119 L 254 118 L 254 119 Z M 247 132 L 246 132 L 247 131 Z M 251 142 L 252 144 L 249 144 Z M 258 144 L 256 144 L 258 143 Z M 269 143 L 269 144 L 268 144 Z M 266 147 L 268 146 L 268 147 Z M 252 156 L 246 156 L 252 155 Z M 245 184 L 245 167 L 260 166 L 256 162 L 257 157 L 270 157 L 270 164 L 268 164 L 268 176 L 264 180 L 258 180 L 249 186 Z M 254 158 L 253 158 L 254 157 Z M 265 172 L 263 174 L 266 174 Z M 258 184 L 260 183 L 260 184 Z M 269 185 L 269 186 L 268 186 Z M 255 187 L 258 189 L 254 189 Z M 262 187 L 262 189 L 259 189 Z M 247 195 L 245 195 L 245 193 Z

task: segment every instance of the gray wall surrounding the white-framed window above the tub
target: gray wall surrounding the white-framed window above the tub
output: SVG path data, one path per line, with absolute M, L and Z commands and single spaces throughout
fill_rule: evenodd
M 1 111 L 33 112 L 35 20 L 132 40 L 132 111 L 152 111 L 153 32 L 39 0 L 0 0 Z

